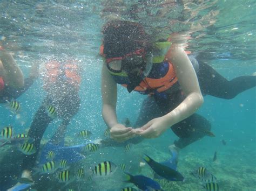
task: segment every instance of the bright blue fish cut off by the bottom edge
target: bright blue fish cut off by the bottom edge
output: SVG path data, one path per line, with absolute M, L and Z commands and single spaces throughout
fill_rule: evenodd
M 156 181 L 150 178 L 147 178 L 146 176 L 143 176 L 143 175 L 133 176 L 127 172 L 125 172 L 125 174 L 127 179 L 125 182 L 131 182 L 135 186 L 137 186 L 139 189 L 142 189 L 142 190 L 161 189 L 161 186 L 159 185 L 159 183 L 157 183 Z

